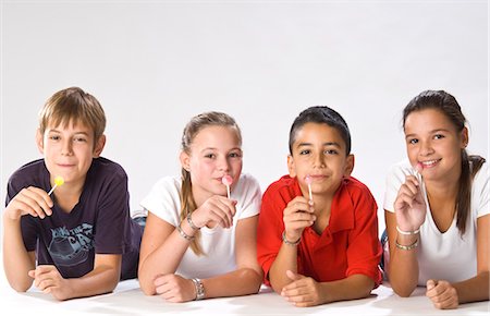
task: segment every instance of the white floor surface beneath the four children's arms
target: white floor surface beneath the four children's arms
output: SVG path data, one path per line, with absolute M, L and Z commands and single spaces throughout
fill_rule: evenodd
M 145 296 L 136 280 L 121 282 L 110 294 L 58 302 L 49 294 L 32 289 L 16 293 L 10 289 L 1 271 L 0 308 L 8 315 L 490 315 L 489 302 L 471 303 L 453 311 L 438 311 L 417 289 L 408 299 L 396 296 L 381 285 L 369 299 L 301 308 L 264 287 L 259 294 L 205 300 L 184 304 L 166 303 L 158 296 Z M 3 314 L 3 313 L 2 313 Z M 5 314 L 3 314 L 5 315 Z

